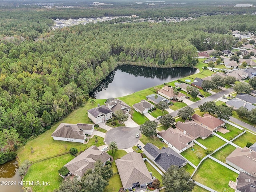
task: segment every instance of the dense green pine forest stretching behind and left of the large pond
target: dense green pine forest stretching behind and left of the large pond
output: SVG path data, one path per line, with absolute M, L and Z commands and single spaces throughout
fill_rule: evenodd
M 119 13 L 112 10 L 112 14 Z M 192 67 L 197 50 L 231 48 L 236 42 L 232 30 L 256 31 L 252 15 L 50 29 L 52 18 L 90 14 L 26 8 L 0 12 L 0 157 L 81 106 L 119 64 Z M 5 137 L 8 130 L 13 137 Z

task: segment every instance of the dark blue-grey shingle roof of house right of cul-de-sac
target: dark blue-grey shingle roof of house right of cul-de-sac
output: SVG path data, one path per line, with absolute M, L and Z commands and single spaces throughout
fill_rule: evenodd
M 153 148 L 154 150 L 152 150 L 150 147 Z M 149 149 L 149 151 L 147 149 Z M 178 153 L 176 153 L 170 147 L 168 147 L 168 148 L 163 147 L 161 150 L 159 150 L 153 144 L 147 143 L 144 146 L 144 150 L 146 150 L 151 156 L 155 155 L 155 151 L 158 151 L 158 155 L 155 158 L 155 161 L 165 171 L 167 171 L 171 165 L 181 166 L 182 164 L 184 164 L 186 162 L 186 160 L 184 160 L 184 158 L 182 158 L 182 156 L 180 156 Z M 150 152 L 153 152 L 153 154 L 151 154 Z

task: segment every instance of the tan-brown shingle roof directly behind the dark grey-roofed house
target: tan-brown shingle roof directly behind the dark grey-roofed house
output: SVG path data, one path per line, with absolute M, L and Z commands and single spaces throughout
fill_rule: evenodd
M 187 147 L 189 142 L 193 139 L 190 136 L 184 134 L 181 130 L 168 128 L 168 130 L 162 130 L 157 133 L 164 138 L 168 143 L 172 144 L 176 149 L 182 150 Z

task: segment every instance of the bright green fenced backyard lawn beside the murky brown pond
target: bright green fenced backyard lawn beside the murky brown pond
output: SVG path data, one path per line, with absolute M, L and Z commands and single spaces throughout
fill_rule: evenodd
M 59 187 L 62 178 L 58 174 L 58 170 L 67 162 L 72 160 L 74 156 L 66 154 L 52 159 L 44 160 L 32 164 L 28 169 L 23 181 L 39 181 L 41 186 L 32 185 L 33 191 L 49 192 Z M 42 183 L 50 182 L 49 186 L 43 186 Z

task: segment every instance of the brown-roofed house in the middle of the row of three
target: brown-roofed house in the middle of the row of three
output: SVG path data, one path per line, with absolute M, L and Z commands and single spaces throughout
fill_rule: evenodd
M 185 122 L 178 121 L 175 126 L 194 140 L 199 137 L 205 139 L 212 134 L 212 131 L 193 120 L 186 120 Z

